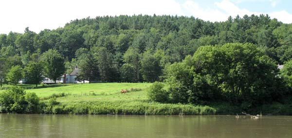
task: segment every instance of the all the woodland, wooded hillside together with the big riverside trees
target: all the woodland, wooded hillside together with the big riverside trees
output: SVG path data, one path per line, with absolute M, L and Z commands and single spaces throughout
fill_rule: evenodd
M 39 74 L 56 79 L 77 65 L 78 80 L 167 82 L 167 92 L 159 89 L 163 84 L 153 86 L 162 95 L 152 98 L 161 102 L 279 100 L 292 85 L 291 59 L 292 24 L 268 15 L 229 17 L 224 22 L 104 16 L 72 20 L 38 34 L 27 27 L 23 34 L 0 35 L 1 84 L 15 84 L 18 76 L 35 84 Z M 280 72 L 277 64 L 287 65 Z

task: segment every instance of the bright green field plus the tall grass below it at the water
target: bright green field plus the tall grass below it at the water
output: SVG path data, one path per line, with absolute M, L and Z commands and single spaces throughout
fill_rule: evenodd
M 19 86 L 25 88 L 27 93 L 36 93 L 41 99 L 36 113 L 118 115 L 214 115 L 216 113 L 214 108 L 208 106 L 152 102 L 147 97 L 147 89 L 151 84 L 59 84 L 37 88 L 25 84 Z M 122 89 L 128 92 L 121 94 Z

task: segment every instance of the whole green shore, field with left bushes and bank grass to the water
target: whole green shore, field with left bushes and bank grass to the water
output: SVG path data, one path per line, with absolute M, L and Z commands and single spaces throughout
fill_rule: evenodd
M 3 100 L 0 99 L 0 112 L 81 115 L 236 115 L 243 111 L 240 106 L 227 102 L 205 105 L 154 102 L 147 96 L 150 85 L 152 83 L 91 83 L 27 90 L 19 86 L 11 86 L 14 91 L 25 92 L 22 93 L 24 100 L 21 101 L 22 97 L 19 94 L 10 93 L 16 102 L 9 103 L 12 106 L 8 109 L 3 106 Z M 20 86 L 27 87 L 27 85 Z M 121 94 L 119 91 L 122 88 L 127 89 L 128 93 Z M 1 90 L 1 97 L 6 92 L 8 91 Z M 22 104 L 17 105 L 18 102 Z M 250 114 L 262 112 L 263 115 L 292 115 L 291 107 L 292 104 L 274 102 L 244 111 Z M 5 109 L 9 112 L 5 112 Z

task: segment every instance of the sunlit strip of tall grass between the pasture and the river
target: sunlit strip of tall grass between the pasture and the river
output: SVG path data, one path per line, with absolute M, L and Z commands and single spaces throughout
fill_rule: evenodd
M 50 105 L 48 102 L 44 105 Z M 44 107 L 43 107 L 44 108 Z M 215 115 L 216 109 L 209 106 L 162 104 L 146 101 L 83 101 L 63 102 L 54 105 L 45 114 L 112 114 L 112 115 Z

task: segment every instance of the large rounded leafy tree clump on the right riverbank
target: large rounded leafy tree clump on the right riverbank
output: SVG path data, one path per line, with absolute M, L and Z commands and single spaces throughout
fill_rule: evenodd
M 248 105 L 271 102 L 282 89 L 275 62 L 253 44 L 200 47 L 193 58 L 168 67 L 173 102 L 226 99 Z

